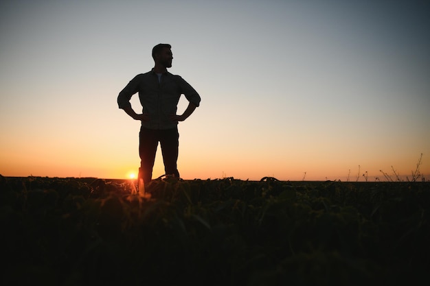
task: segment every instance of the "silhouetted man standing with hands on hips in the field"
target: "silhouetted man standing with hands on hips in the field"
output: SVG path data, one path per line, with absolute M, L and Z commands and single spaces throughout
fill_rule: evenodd
M 156 45 L 152 49 L 152 58 L 155 61 L 154 68 L 136 75 L 117 98 L 119 108 L 133 119 L 142 121 L 139 132 L 139 178 L 143 178 L 145 184 L 152 180 L 158 143 L 161 145 L 166 176 L 179 178 L 178 122 L 187 119 L 201 101 L 199 93 L 188 82 L 167 71 L 172 67 L 173 59 L 170 45 Z M 130 99 L 135 93 L 139 93 L 142 114 L 137 114 L 131 108 Z M 177 115 L 181 95 L 185 95 L 189 104 L 182 115 Z

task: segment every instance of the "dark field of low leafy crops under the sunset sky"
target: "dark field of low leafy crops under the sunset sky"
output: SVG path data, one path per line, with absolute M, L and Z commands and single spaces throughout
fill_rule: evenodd
M 427 285 L 430 182 L 0 176 L 1 285 Z

